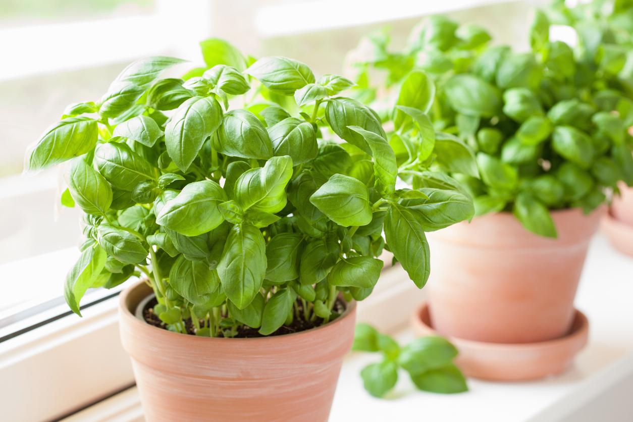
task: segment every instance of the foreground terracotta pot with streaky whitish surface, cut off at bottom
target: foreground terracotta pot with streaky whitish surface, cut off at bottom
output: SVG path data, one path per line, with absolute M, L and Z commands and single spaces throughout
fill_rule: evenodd
M 147 421 L 327 421 L 342 359 L 354 337 L 355 304 L 331 323 L 261 338 L 169 332 L 134 316 L 151 293 L 123 292 L 123 347 Z

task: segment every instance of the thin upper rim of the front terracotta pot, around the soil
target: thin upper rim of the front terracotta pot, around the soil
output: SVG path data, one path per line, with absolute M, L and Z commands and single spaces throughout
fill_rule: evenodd
M 175 333 L 169 330 L 165 330 L 163 328 L 158 328 L 157 326 L 153 326 L 148 324 L 146 321 L 144 320 L 140 320 L 139 318 L 137 318 L 135 316 L 134 313 L 132 313 L 132 311 L 130 311 L 129 307 L 128 307 L 128 298 L 130 297 L 130 294 L 132 292 L 134 292 L 137 289 L 148 289 L 151 291 L 151 288 L 144 282 L 144 280 L 137 280 L 137 282 L 135 282 L 134 284 L 128 286 L 127 288 L 125 288 L 125 290 L 123 290 L 123 292 L 121 292 L 120 297 L 119 297 L 119 312 L 121 314 L 121 318 L 125 319 L 125 322 L 127 324 L 130 325 L 136 325 L 139 326 L 139 329 L 141 330 L 154 330 L 154 333 L 157 333 L 160 335 L 169 335 L 170 337 L 172 337 L 174 340 L 187 340 L 187 341 L 194 341 L 194 342 L 209 342 L 209 341 L 215 341 L 215 342 L 249 342 L 249 343 L 253 343 L 253 342 L 260 342 L 260 343 L 265 343 L 265 342 L 273 342 L 273 341 L 280 341 L 282 339 L 287 339 L 287 338 L 296 338 L 302 335 L 311 335 L 314 332 L 316 332 L 316 330 L 322 330 L 325 328 L 332 328 L 335 325 L 340 324 L 343 320 L 345 320 L 346 318 L 348 318 L 349 316 L 353 316 L 354 311 L 356 310 L 356 301 L 352 300 L 350 302 L 345 302 L 346 303 L 346 309 L 345 311 L 341 314 L 341 316 L 339 316 L 339 318 L 336 318 L 334 321 L 330 321 L 329 323 L 325 324 L 325 325 L 320 325 L 320 326 L 316 326 L 314 328 L 310 328 L 310 330 L 303 330 L 300 332 L 296 332 L 296 333 L 289 333 L 289 334 L 282 334 L 282 335 L 273 335 L 273 336 L 263 336 L 263 337 L 239 337 L 239 338 L 231 338 L 231 337 L 201 337 L 198 335 L 191 335 L 191 334 L 184 334 L 184 333 Z M 141 299 L 141 301 L 146 298 L 147 295 L 144 295 L 143 298 Z M 135 304 L 133 304 L 134 309 L 141 303 L 141 301 L 137 301 Z

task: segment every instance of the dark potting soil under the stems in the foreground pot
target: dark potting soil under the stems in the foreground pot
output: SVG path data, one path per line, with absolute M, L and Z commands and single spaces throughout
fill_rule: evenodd
M 156 301 L 155 297 L 151 301 L 147 302 L 147 304 L 145 305 L 145 308 L 143 309 L 143 318 L 149 325 L 157 326 L 158 328 L 163 328 L 164 330 L 167 330 L 166 324 L 163 323 L 163 321 L 161 321 L 160 318 L 158 318 L 158 315 L 154 314 L 153 308 L 156 304 L 158 304 L 158 301 Z M 234 338 L 270 337 L 273 335 L 298 333 L 301 331 L 310 330 L 310 328 L 315 328 L 323 324 L 323 318 L 316 318 L 314 321 L 304 320 L 303 304 L 301 303 L 301 301 L 298 300 L 297 305 L 299 307 L 299 318 L 294 318 L 292 320 L 291 325 L 282 325 L 279 328 L 279 330 L 267 336 L 261 335 L 258 332 L 257 328 L 251 328 L 246 325 L 237 325 L 237 334 L 234 336 Z M 345 311 L 345 302 L 339 299 L 335 302 L 334 309 L 332 310 L 332 312 L 335 316 L 338 316 L 342 314 L 343 311 Z M 330 322 L 334 320 L 335 318 L 332 318 Z M 191 335 L 196 334 L 195 327 L 191 318 L 188 318 L 187 320 L 185 320 L 185 328 L 187 328 L 187 334 L 191 334 Z M 219 333 L 218 337 L 224 337 L 224 336 L 222 335 L 222 333 Z

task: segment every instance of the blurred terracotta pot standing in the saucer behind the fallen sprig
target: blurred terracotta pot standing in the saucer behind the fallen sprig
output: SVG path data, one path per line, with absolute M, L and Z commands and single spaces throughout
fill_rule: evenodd
M 589 240 L 603 212 L 553 211 L 558 239 L 528 232 L 510 213 L 429 233 L 427 289 L 434 328 L 491 343 L 565 335 Z

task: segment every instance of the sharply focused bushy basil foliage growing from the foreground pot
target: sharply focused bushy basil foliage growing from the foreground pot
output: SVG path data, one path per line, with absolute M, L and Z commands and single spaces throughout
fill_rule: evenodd
M 372 109 L 342 95 L 348 79 L 218 39 L 201 46 L 206 67 L 183 78 L 160 78 L 180 59 L 135 61 L 28 151 L 27 170 L 68 161 L 61 202 L 84 211 L 68 306 L 80 314 L 87 289 L 139 275 L 169 330 L 309 328 L 341 313 L 337 298 L 372 292 L 385 248 L 422 288 L 425 231 L 472 216 L 451 178 L 396 189 L 401 152 Z M 403 125 L 419 124 L 419 110 L 403 110 Z

